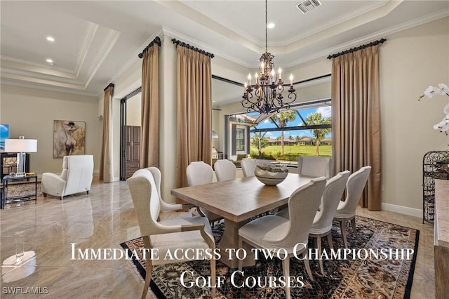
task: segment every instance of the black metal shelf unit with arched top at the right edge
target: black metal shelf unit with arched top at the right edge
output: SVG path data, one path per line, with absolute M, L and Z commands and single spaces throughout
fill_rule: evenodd
M 422 223 L 434 223 L 435 179 L 449 180 L 449 151 L 431 151 L 422 158 Z

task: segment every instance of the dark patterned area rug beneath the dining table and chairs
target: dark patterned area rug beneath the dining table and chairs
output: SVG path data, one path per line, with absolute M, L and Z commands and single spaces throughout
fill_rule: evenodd
M 319 271 L 318 260 L 310 260 L 314 281 L 307 276 L 304 263 L 296 258 L 290 259 L 290 276 L 304 277 L 304 286 L 290 288 L 292 298 L 410 298 L 413 271 L 417 255 L 419 230 L 369 218 L 357 217 L 358 240 L 351 230 L 347 236 L 349 248 L 366 249 L 413 249 L 409 259 L 347 259 L 323 260 L 325 275 Z M 219 241 L 223 224 L 213 227 L 215 241 Z M 333 230 L 334 248 L 343 248 L 340 227 L 335 223 Z M 324 238 L 326 239 L 326 238 Z M 323 239 L 323 248 L 329 249 Z M 311 240 L 309 246 L 314 248 Z M 138 249 L 143 247 L 142 238 L 126 241 L 123 248 Z M 397 251 L 394 251 L 397 252 Z M 138 272 L 145 277 L 145 260 L 133 259 Z M 243 268 L 245 277 L 236 279 L 238 284 L 249 276 L 279 277 L 282 276 L 281 260 L 278 258 L 259 260 L 254 267 Z M 180 276 L 184 271 L 193 271 L 198 276 L 210 275 L 207 260 L 192 261 L 153 267 L 152 291 L 158 298 L 210 298 L 209 289 L 185 288 L 180 284 Z M 286 298 L 283 288 L 254 287 L 236 288 L 231 284 L 230 269 L 217 261 L 217 276 L 225 276 L 225 286 L 217 288 L 217 298 Z M 240 274 L 237 274 L 240 275 Z

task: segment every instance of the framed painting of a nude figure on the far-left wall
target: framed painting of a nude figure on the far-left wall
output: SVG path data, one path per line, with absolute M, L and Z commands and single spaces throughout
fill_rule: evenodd
M 86 121 L 53 121 L 53 158 L 85 154 Z

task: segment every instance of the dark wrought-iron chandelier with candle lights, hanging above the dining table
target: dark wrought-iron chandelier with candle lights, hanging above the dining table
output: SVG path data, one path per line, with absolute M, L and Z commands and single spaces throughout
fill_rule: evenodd
M 269 114 L 280 112 L 281 109 L 290 109 L 290 103 L 296 100 L 295 88 L 293 88 L 293 75 L 290 74 L 290 89 L 288 89 L 288 99 L 284 98 L 284 90 L 281 77 L 281 68 L 278 72 L 274 70 L 274 56 L 268 52 L 268 18 L 267 0 L 265 0 L 265 53 L 260 56 L 259 73 L 255 73 L 255 83 L 251 84 L 251 74 L 245 82 L 245 92 L 241 105 L 246 108 L 246 112 L 259 112 Z M 254 95 L 253 95 L 254 91 Z

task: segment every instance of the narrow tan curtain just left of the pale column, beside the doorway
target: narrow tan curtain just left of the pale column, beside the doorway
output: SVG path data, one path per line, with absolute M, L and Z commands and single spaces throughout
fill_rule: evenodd
M 159 167 L 159 46 L 153 44 L 142 60 L 142 140 L 140 168 Z

